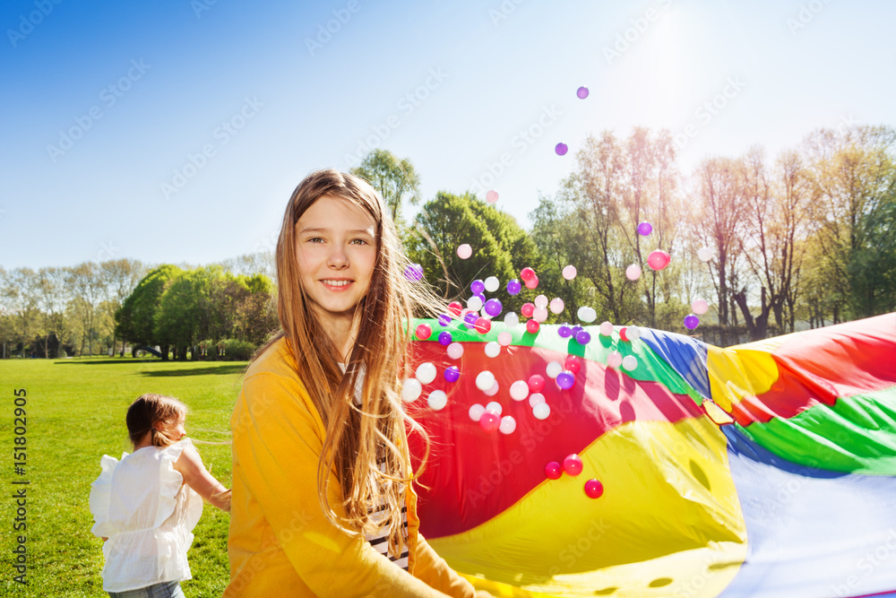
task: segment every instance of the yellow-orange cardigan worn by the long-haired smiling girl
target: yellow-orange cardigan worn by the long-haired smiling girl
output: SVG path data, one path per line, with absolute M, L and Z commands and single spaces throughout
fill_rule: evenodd
M 285 340 L 271 345 L 246 372 L 230 429 L 233 494 L 225 596 L 474 596 L 470 582 L 418 533 L 412 490 L 407 493 L 408 571 L 323 515 L 316 476 L 325 429 Z M 339 508 L 335 475 L 330 489 L 330 504 Z

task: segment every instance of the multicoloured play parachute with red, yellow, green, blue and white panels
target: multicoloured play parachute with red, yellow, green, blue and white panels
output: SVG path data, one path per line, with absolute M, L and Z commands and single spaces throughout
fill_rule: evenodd
M 556 326 L 478 334 L 425 322 L 435 334 L 415 344 L 417 359 L 440 374 L 412 403 L 433 440 L 421 532 L 479 588 L 896 595 L 896 314 L 728 349 L 658 330 L 624 341 L 590 326 L 580 345 Z M 459 360 L 435 342 L 444 330 L 463 345 Z M 502 331 L 513 342 L 487 357 Z M 607 367 L 611 351 L 637 366 Z M 569 354 L 582 367 L 561 390 L 546 367 Z M 452 365 L 454 383 L 441 375 Z M 494 396 L 475 384 L 483 370 Z M 533 374 L 547 380 L 545 420 L 508 394 Z M 448 394 L 440 411 L 426 408 L 433 390 Z M 513 416 L 512 433 L 471 419 L 490 401 Z M 548 479 L 546 464 L 571 454 L 582 472 Z M 583 490 L 592 479 L 599 498 Z

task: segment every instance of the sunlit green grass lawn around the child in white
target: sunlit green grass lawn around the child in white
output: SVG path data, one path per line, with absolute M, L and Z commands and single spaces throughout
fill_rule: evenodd
M 6 448 L 0 596 L 106 596 L 102 590 L 102 541 L 90 533 L 90 482 L 99 458 L 131 452 L 127 406 L 142 393 L 175 396 L 190 407 L 186 431 L 194 441 L 228 440 L 228 420 L 245 362 L 165 362 L 131 358 L 0 360 L 4 412 L 0 443 Z M 13 409 L 27 392 L 27 464 L 14 472 Z M 212 475 L 230 487 L 230 447 L 197 442 Z M 28 486 L 15 481 L 30 481 Z M 27 488 L 28 585 L 13 581 L 13 492 Z M 193 579 L 187 596 L 220 596 L 228 580 L 228 515 L 206 504 L 188 556 Z

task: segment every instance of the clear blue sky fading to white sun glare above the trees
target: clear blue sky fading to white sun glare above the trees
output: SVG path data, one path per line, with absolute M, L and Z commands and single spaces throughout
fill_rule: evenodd
M 297 183 L 371 147 L 409 158 L 424 198 L 494 188 L 528 226 L 604 129 L 688 131 L 686 170 L 892 126 L 894 18 L 883 0 L 5 2 L 0 265 L 270 248 Z

